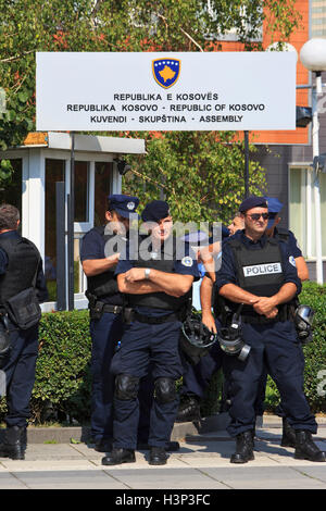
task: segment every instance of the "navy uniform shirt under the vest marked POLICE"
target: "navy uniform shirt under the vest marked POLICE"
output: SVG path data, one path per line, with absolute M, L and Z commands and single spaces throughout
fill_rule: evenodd
M 229 240 L 239 239 L 249 250 L 260 250 L 264 247 L 266 240 L 268 239 L 263 235 L 256 242 L 252 241 L 244 235 L 244 230 L 238 230 L 234 236 L 230 236 L 222 244 L 222 252 L 218 257 L 222 257 L 222 264 L 218 272 L 216 272 L 216 288 L 220 290 L 225 284 L 236 284 L 237 281 L 237 270 L 235 264 L 235 257 L 233 249 L 229 247 Z M 284 284 L 293 283 L 297 286 L 297 294 L 301 291 L 301 281 L 298 277 L 298 272 L 294 265 L 293 256 L 290 253 L 288 245 L 284 241 L 279 241 L 281 262 L 283 262 L 283 272 L 284 272 Z

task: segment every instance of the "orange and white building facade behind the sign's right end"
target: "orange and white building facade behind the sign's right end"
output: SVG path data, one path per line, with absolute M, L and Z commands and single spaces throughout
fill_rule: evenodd
M 302 46 L 312 37 L 326 38 L 326 0 L 297 0 L 296 8 L 302 20 L 289 39 L 290 48 L 297 51 L 297 105 L 312 107 L 314 74 L 300 61 Z M 274 35 L 274 41 L 277 34 Z M 268 49 L 271 39 L 266 27 L 262 27 L 261 41 Z M 231 37 L 223 41 L 223 51 L 241 51 L 243 47 Z M 277 79 L 277 77 L 275 78 Z M 326 73 L 322 75 L 323 95 L 318 98 L 319 154 L 326 154 Z M 309 86 L 310 88 L 304 88 Z M 239 134 L 241 136 L 241 134 Z M 254 132 L 250 141 L 259 149 L 251 157 L 266 169 L 267 195 L 277 197 L 283 203 L 283 227 L 290 228 L 298 238 L 306 259 L 310 278 L 316 279 L 316 235 L 313 192 L 312 124 L 296 130 Z M 319 174 L 323 274 L 326 282 L 326 169 Z

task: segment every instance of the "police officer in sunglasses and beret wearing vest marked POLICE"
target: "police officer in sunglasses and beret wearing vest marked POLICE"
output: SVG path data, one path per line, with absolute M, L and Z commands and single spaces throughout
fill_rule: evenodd
M 243 304 L 242 339 L 251 348 L 248 358 L 225 356 L 229 382 L 230 436 L 237 448 L 233 463 L 253 456 L 254 402 L 264 362 L 281 396 L 288 422 L 296 429 L 297 459 L 326 461 L 326 453 L 312 440 L 317 424 L 303 394 L 303 360 L 293 322 L 291 301 L 301 290 L 286 244 L 265 235 L 268 209 L 264 198 L 250 197 L 239 208 L 244 230 L 225 240 L 222 265 L 216 273 L 216 291 L 227 317 Z

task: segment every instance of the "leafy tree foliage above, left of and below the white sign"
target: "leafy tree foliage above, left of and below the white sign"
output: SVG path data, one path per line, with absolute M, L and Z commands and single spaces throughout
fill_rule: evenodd
M 0 113 L 0 150 L 21 144 L 26 134 L 35 129 L 36 51 L 216 51 L 221 49 L 218 38 L 230 28 L 243 42 L 243 49 L 260 50 L 262 45 L 258 36 L 263 23 L 271 40 L 276 32 L 278 40 L 287 40 L 298 26 L 300 15 L 294 4 L 296 0 L 0 0 L 0 87 L 7 99 L 5 112 Z M 165 134 L 163 138 L 153 138 L 151 134 L 145 136 L 149 140 L 149 158 L 141 162 L 143 170 L 152 183 L 160 177 L 156 175 L 159 170 L 152 165 L 164 170 L 161 177 L 164 177 L 165 191 L 175 201 L 176 209 L 180 192 L 185 191 L 177 184 L 176 172 L 183 171 L 183 179 L 186 179 L 188 169 L 188 194 L 195 194 L 193 199 L 201 201 L 201 213 L 208 215 L 209 204 L 216 201 L 211 187 L 216 182 L 220 186 L 221 173 L 226 171 L 223 162 L 227 162 L 227 173 L 229 169 L 233 173 L 225 176 L 224 197 L 218 199 L 223 201 L 218 202 L 218 214 L 224 217 L 231 201 L 237 200 L 242 190 L 240 145 L 227 145 L 231 140 L 227 134 L 218 135 L 222 145 L 216 142 L 216 134 L 208 133 Z M 188 144 L 211 152 L 196 157 L 190 154 Z M 161 154 L 160 161 L 154 153 Z M 186 158 L 190 158 L 188 163 Z M 173 161 L 178 167 L 173 166 Z M 8 177 L 7 166 L 8 163 L 2 163 L 0 182 Z M 262 171 L 255 169 L 252 164 L 254 179 L 263 186 Z M 141 179 L 138 191 L 142 190 Z M 230 179 L 234 179 L 233 184 Z M 162 182 L 159 179 L 159 183 Z M 136 185 L 135 178 L 133 189 Z M 197 185 L 201 186 L 200 197 L 196 192 Z M 128 186 L 131 189 L 131 184 Z M 234 199 L 228 195 L 227 186 L 230 186 Z M 147 185 L 147 195 L 150 189 Z M 226 197 L 229 197 L 228 205 L 225 204 Z

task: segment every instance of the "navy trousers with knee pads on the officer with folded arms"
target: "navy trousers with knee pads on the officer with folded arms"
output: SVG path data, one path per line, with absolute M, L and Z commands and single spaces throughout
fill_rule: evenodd
M 115 354 L 112 369 L 115 374 L 143 378 L 151 371 L 151 379 L 167 377 L 177 381 L 183 374 L 178 351 L 180 322 L 149 325 L 134 322 L 125 327 L 121 349 Z M 152 399 L 148 444 L 166 447 L 178 410 L 178 397 L 168 402 Z M 139 423 L 139 400 L 114 398 L 113 445 L 116 448 L 136 449 Z

